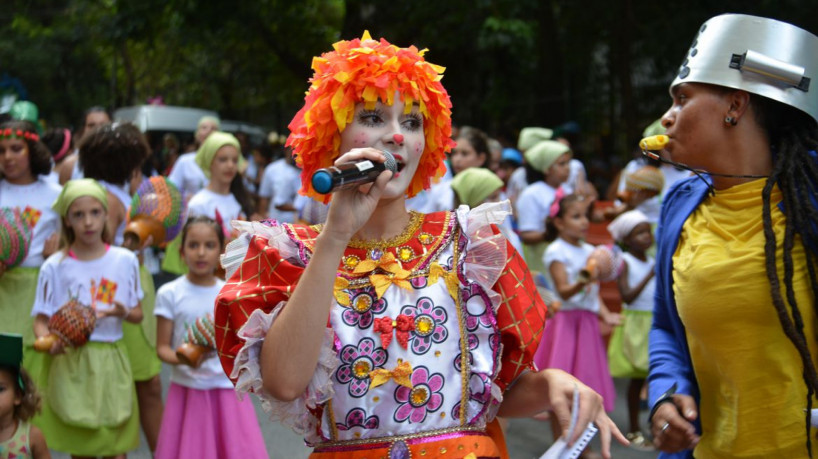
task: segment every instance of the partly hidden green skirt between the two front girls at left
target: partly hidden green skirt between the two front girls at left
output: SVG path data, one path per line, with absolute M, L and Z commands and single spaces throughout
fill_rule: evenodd
M 139 277 L 144 293 L 143 319 L 138 324 L 122 322 L 122 342 L 128 352 L 134 381 L 147 381 L 159 374 L 162 370 L 162 361 L 156 354 L 156 316 L 153 315 L 156 289 L 153 286 L 153 277 L 144 266 L 139 268 Z

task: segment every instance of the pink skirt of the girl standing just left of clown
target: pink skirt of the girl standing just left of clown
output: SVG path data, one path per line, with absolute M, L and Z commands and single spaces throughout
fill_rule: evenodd
M 157 459 L 268 459 L 256 411 L 233 389 L 198 390 L 170 384 Z

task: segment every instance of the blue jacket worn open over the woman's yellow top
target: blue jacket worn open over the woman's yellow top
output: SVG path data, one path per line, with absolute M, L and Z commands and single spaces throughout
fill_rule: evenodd
M 699 387 L 690 361 L 690 349 L 673 296 L 673 253 L 679 243 L 682 226 L 707 196 L 707 191 L 704 181 L 690 177 L 676 183 L 662 202 L 656 229 L 656 294 L 648 351 L 648 400 L 651 406 L 674 384 L 677 394 L 690 395 L 699 403 Z M 695 426 L 701 434 L 698 420 Z M 693 451 L 661 453 L 659 457 L 692 458 Z

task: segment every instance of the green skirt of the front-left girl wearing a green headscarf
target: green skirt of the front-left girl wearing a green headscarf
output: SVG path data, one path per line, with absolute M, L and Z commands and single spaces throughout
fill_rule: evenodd
M 122 341 L 89 342 L 51 358 L 43 411 L 48 446 L 75 456 L 114 456 L 139 446 L 139 407 Z

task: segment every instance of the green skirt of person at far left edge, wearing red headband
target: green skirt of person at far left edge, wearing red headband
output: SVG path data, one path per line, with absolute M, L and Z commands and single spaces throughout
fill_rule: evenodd
M 31 308 L 37 296 L 40 268 L 11 268 L 0 277 L 0 332 L 23 335 L 23 344 L 34 344 Z

